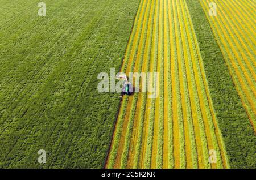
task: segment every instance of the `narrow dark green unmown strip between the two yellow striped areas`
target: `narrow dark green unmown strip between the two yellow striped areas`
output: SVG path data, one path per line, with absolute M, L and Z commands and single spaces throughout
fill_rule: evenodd
M 216 111 L 217 126 L 223 134 L 228 164 L 230 168 L 255 168 L 255 135 L 208 22 L 208 11 L 204 11 L 200 1 L 186 2 L 200 45 L 209 93 Z

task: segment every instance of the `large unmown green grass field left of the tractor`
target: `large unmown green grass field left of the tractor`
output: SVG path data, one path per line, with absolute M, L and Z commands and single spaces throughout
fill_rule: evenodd
M 139 2 L 44 2 L 1 2 L 0 167 L 101 168 L 120 98 L 97 75 L 119 70 Z

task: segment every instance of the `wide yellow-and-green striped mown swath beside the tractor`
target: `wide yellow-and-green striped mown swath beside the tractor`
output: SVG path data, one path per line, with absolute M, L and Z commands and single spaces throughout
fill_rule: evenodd
M 106 168 L 229 167 L 185 0 L 141 1 L 121 71 L 159 72 L 159 96 L 123 96 Z

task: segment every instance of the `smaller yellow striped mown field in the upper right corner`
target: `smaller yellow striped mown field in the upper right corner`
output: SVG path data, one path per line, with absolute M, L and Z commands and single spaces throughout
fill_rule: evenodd
M 256 1 L 200 2 L 206 14 L 209 2 L 217 5 L 217 16 L 207 17 L 256 133 Z

